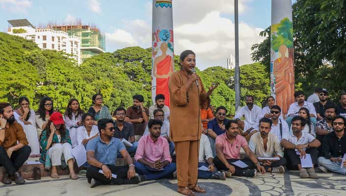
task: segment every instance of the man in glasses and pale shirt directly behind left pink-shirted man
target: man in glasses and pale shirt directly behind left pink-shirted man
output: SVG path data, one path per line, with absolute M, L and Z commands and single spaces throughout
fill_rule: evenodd
M 154 110 L 153 114 L 154 114 L 154 119 L 160 120 L 162 122 L 161 136 L 164 137 L 168 141 L 169 153 L 172 155 L 174 152 L 174 142 L 169 140 L 169 121 L 164 119 L 164 112 L 161 109 Z M 143 136 L 149 135 L 149 134 L 150 134 L 149 127 L 146 126 Z

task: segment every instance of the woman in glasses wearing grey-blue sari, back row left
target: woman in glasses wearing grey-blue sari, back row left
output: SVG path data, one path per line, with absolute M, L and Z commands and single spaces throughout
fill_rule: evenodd
M 92 103 L 94 104 L 88 110 L 88 113 L 94 115 L 94 124 L 97 125 L 97 121 L 99 119 L 110 119 L 112 120 L 112 116 L 107 108 L 107 106 L 103 104 L 103 98 L 101 94 L 95 94 L 92 96 Z

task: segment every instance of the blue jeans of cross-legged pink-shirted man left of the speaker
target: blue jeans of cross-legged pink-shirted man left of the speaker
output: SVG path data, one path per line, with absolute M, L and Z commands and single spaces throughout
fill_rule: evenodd
M 157 180 L 157 179 L 166 177 L 177 170 L 177 165 L 175 163 L 170 163 L 165 165 L 163 167 L 164 170 L 161 170 L 161 171 L 149 170 L 148 166 L 144 165 L 143 163 L 139 163 L 137 161 L 134 162 L 134 165 L 136 166 L 136 172 L 138 174 L 144 174 L 148 180 Z

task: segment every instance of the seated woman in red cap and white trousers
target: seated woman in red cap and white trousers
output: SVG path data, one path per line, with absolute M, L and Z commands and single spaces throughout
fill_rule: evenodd
M 66 168 L 68 165 L 70 178 L 73 180 L 78 179 L 78 176 L 73 170 L 74 159 L 71 153 L 72 144 L 69 130 L 65 127 L 61 113 L 53 112 L 51 115 L 46 129 L 41 133 L 40 145 L 42 147 L 40 162 L 45 163 L 46 170 L 52 167 L 52 178 L 59 178 L 57 166 Z M 62 157 L 64 161 L 61 161 Z

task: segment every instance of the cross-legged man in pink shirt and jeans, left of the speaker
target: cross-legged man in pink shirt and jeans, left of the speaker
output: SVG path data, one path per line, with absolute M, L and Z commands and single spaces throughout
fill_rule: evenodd
M 169 145 L 161 137 L 162 121 L 151 119 L 148 122 L 149 135 L 142 136 L 138 142 L 134 165 L 138 174 L 144 174 L 146 180 L 173 177 L 177 166 L 172 162 Z

